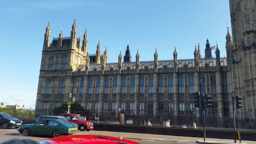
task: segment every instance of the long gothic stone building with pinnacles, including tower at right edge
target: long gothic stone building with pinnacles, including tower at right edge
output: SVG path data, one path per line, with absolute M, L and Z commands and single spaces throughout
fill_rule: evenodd
M 175 48 L 173 60 L 158 60 L 156 49 L 152 54 L 154 61 L 140 61 L 137 51 L 135 62 L 131 62 L 127 46 L 123 62 L 120 51 L 118 63 L 107 63 L 107 47 L 101 54 L 100 43 L 96 54 L 88 54 L 87 31 L 82 41 L 81 36 L 77 38 L 76 20 L 71 37 L 63 37 L 61 31 L 52 43 L 48 24 L 36 109 L 58 107 L 71 92 L 76 101 L 92 112 L 118 113 L 120 108 L 122 113 L 130 114 L 198 117 L 201 113 L 193 107 L 192 93 L 200 91 L 213 97 L 214 107 L 207 111 L 209 117 L 232 117 L 234 93 L 244 98 L 244 107 L 237 110 L 237 115 L 255 118 L 255 1 L 249 1 L 252 5 L 230 0 L 234 43 L 227 29 L 227 58 L 220 58 L 218 45 L 212 58 L 207 39 L 206 58 L 202 58 L 198 43 L 193 59 L 178 60 Z

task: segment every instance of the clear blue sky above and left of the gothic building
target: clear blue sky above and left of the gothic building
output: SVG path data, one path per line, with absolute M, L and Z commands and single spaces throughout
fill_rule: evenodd
M 100 38 L 108 63 L 118 62 L 120 47 L 127 41 L 135 61 L 194 58 L 195 42 L 204 57 L 207 36 L 217 40 L 221 57 L 226 55 L 229 23 L 228 0 L 1 0 L 0 1 L 0 101 L 35 108 L 44 33 L 50 18 L 51 39 L 70 37 L 76 15 L 77 36 L 87 26 L 89 54 L 95 54 Z M 212 50 L 215 57 L 215 50 Z

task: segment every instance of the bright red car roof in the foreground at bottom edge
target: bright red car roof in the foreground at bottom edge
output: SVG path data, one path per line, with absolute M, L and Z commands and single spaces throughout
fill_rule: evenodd
M 139 144 L 123 138 L 105 135 L 67 135 L 39 141 L 40 144 Z

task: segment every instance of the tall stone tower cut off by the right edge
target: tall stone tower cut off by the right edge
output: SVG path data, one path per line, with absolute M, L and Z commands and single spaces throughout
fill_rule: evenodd
M 256 117 L 256 1 L 230 0 L 233 43 L 228 46 L 231 92 L 243 97 L 238 117 Z

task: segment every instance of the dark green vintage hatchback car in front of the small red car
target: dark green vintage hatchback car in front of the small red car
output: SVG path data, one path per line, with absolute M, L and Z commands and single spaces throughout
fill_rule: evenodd
M 41 119 L 35 124 L 25 124 L 18 130 L 24 136 L 28 135 L 52 135 L 58 137 L 61 135 L 70 135 L 77 132 L 77 126 L 69 124 L 60 119 Z

